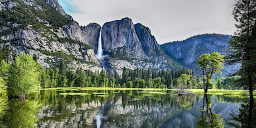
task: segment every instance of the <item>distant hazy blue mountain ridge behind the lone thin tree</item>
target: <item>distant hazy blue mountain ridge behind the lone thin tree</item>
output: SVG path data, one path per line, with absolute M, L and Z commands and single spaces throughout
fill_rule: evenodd
M 223 34 L 202 34 L 187 38 L 183 41 L 168 42 L 161 45 L 164 52 L 179 61 L 183 66 L 193 69 L 197 74 L 201 73 L 196 67 L 197 57 L 203 53 L 220 52 L 225 55 L 225 51 L 230 40 L 230 35 Z M 238 65 L 224 65 L 222 76 L 227 75 Z

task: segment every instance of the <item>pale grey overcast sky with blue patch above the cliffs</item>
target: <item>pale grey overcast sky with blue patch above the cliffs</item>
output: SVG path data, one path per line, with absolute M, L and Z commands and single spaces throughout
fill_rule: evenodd
M 58 0 L 79 25 L 129 17 L 151 30 L 159 44 L 204 33 L 232 35 L 235 0 Z

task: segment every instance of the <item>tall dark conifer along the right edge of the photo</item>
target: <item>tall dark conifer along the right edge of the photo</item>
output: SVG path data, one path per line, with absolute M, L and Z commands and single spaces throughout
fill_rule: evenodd
M 235 35 L 228 42 L 226 61 L 227 64 L 241 63 L 234 75 L 240 75 L 241 84 L 249 89 L 252 110 L 256 85 L 256 0 L 237 0 L 232 14 L 238 23 Z

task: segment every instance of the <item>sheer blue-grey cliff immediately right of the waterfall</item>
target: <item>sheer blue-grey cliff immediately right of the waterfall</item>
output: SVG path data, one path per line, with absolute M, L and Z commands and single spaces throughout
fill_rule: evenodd
M 161 50 L 149 28 L 141 24 L 133 25 L 129 18 L 104 23 L 102 49 L 104 54 L 109 55 L 106 57 L 106 69 L 119 74 L 124 66 L 155 70 L 180 67 Z

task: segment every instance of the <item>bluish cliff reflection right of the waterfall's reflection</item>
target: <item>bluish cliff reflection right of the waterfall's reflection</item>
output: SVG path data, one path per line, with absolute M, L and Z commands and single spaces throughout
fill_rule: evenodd
M 104 122 L 102 127 L 196 127 L 196 119 L 201 115 L 198 106 L 202 104 L 202 98 L 199 98 L 198 102 L 193 100 L 191 106 L 183 108 L 180 107 L 177 98 L 179 97 L 171 98 L 165 105 L 161 105 L 160 101 L 153 103 L 151 100 L 149 107 L 145 103 L 138 107 L 130 104 L 125 108 L 122 107 L 123 104 L 119 99 L 108 111 L 108 122 Z M 210 100 L 211 110 L 215 113 L 222 113 L 221 117 L 227 117 L 231 113 L 231 110 L 223 111 L 226 110 L 225 108 L 239 107 L 239 104 L 217 102 L 215 98 Z

